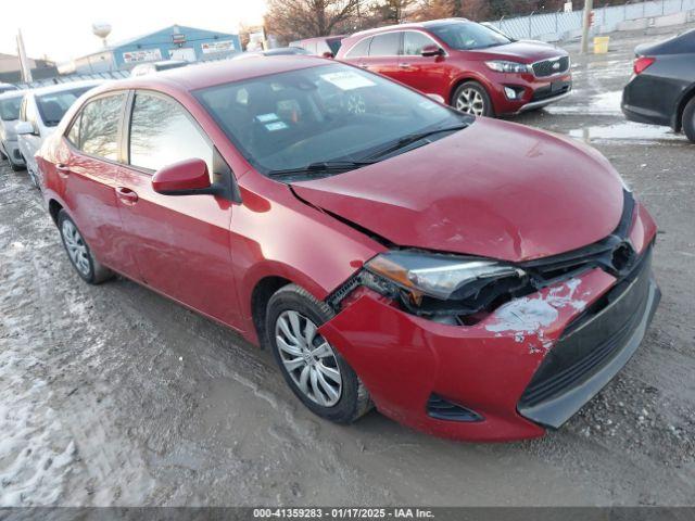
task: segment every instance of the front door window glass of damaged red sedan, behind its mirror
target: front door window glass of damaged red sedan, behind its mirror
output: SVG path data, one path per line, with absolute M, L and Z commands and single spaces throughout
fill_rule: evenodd
M 174 100 L 138 92 L 130 119 L 130 164 L 159 170 L 179 161 L 200 158 L 213 173 L 212 144 L 186 110 Z

